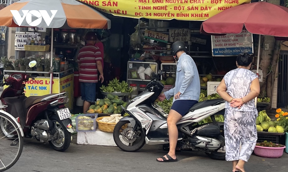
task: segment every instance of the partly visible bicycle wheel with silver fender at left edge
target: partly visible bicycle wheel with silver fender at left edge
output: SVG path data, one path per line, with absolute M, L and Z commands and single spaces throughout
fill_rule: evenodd
M 20 158 L 23 149 L 23 138 L 21 136 L 20 128 L 17 124 L 6 114 L 0 113 L 0 119 L 9 124 L 0 135 L 0 172 L 11 168 Z M 7 133 L 9 131 L 9 133 Z M 15 137 L 7 139 L 7 135 L 13 134 Z

